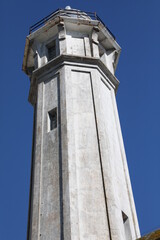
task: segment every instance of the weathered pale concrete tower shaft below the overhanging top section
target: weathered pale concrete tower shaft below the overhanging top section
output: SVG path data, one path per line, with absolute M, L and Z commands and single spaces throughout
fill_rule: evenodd
M 37 198 L 32 199 L 30 239 L 60 239 L 61 231 L 66 240 L 110 239 L 109 229 L 113 240 L 125 239 L 122 211 L 129 218 L 131 239 L 136 239 L 138 221 L 112 85 L 98 69 L 66 65 L 58 72 L 46 74 L 38 84 Z M 58 101 L 61 138 L 59 128 L 48 132 L 48 112 Z

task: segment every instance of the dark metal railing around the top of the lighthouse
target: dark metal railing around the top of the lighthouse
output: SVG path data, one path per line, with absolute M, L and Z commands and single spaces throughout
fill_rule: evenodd
M 104 22 L 100 19 L 100 17 L 98 17 L 96 12 L 94 12 L 94 13 L 93 12 L 84 12 L 84 11 L 79 11 L 79 10 L 75 10 L 75 9 L 57 9 L 56 11 L 52 12 L 51 14 L 46 16 L 45 18 L 41 19 L 40 21 L 38 21 L 37 23 L 32 25 L 29 28 L 29 34 L 34 32 L 35 30 L 37 30 L 41 26 L 43 26 L 49 20 L 52 20 L 52 19 L 54 19 L 56 17 L 60 17 L 60 16 L 76 17 L 76 18 L 84 18 L 84 19 L 91 19 L 91 20 L 100 21 L 105 26 L 105 28 L 108 30 L 108 32 L 111 34 L 111 36 L 115 39 L 115 36 L 113 35 L 113 33 L 104 24 Z

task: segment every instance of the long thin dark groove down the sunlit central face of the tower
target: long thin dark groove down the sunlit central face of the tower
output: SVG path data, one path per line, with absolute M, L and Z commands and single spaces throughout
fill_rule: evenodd
M 105 191 L 105 181 L 104 181 L 104 174 L 103 174 L 103 164 L 102 164 L 102 156 L 101 156 L 101 147 L 100 147 L 100 141 L 99 141 L 99 132 L 98 132 L 98 122 L 97 122 L 97 115 L 96 115 L 96 106 L 95 106 L 95 99 L 94 99 L 93 83 L 92 83 L 91 74 L 90 74 L 90 82 L 91 82 L 91 92 L 92 92 L 92 100 L 93 100 L 93 111 L 94 111 L 94 116 L 95 116 L 95 125 L 96 125 L 96 133 L 97 133 L 98 152 L 99 152 L 99 159 L 100 159 L 100 167 L 101 167 L 101 176 L 102 176 L 103 192 L 104 192 L 104 198 L 105 198 L 106 215 L 107 215 L 107 220 L 108 220 L 109 237 L 110 237 L 110 240 L 112 240 L 111 227 L 110 227 L 110 219 L 109 219 L 109 210 L 108 210 L 107 196 L 106 196 L 106 191 Z

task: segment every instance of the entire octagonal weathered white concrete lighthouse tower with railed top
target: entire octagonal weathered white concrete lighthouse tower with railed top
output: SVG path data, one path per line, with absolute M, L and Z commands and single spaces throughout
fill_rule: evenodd
M 28 240 L 130 240 L 139 226 L 115 100 L 121 48 L 97 15 L 67 7 L 31 28 L 34 107 Z

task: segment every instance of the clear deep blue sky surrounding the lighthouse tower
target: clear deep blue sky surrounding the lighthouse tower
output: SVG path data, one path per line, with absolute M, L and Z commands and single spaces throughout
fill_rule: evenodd
M 119 115 L 141 233 L 160 228 L 160 1 L 1 0 L 0 239 L 26 239 L 33 109 L 21 71 L 30 25 L 71 5 L 96 11 L 122 47 Z

